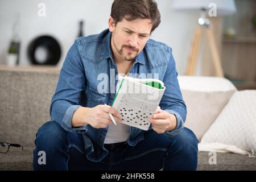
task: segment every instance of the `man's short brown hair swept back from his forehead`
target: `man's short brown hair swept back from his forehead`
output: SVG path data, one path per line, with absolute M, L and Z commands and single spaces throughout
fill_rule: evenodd
M 161 22 L 158 4 L 154 0 L 114 0 L 111 14 L 115 23 L 125 18 L 127 21 L 134 19 L 151 19 L 152 30 Z

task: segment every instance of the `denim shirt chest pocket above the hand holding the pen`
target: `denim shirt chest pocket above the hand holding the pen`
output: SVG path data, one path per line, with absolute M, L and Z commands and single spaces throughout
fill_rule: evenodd
M 89 86 L 86 86 L 85 94 L 87 97 L 86 107 L 95 107 L 104 103 L 105 94 L 98 93 L 97 91 L 90 89 Z

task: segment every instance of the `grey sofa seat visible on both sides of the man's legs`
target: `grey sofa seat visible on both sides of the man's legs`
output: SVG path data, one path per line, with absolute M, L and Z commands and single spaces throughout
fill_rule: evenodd
M 0 170 L 32 170 L 33 148 L 10 148 L 0 154 Z M 197 170 L 256 170 L 256 158 L 247 155 L 217 153 L 217 164 L 209 164 L 208 152 L 199 152 Z

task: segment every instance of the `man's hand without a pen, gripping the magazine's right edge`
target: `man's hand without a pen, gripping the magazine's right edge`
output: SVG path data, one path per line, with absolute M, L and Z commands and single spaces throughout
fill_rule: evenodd
M 177 125 L 175 115 L 162 109 L 156 110 L 153 117 L 148 119 L 148 122 L 152 123 L 152 129 L 159 134 L 174 130 Z

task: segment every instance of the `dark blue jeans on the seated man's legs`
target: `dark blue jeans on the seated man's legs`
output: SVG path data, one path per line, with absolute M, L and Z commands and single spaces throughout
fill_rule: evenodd
M 175 137 L 149 130 L 134 147 L 126 142 L 105 144 L 109 154 L 101 162 L 91 162 L 84 155 L 82 134 L 51 121 L 36 134 L 33 165 L 35 170 L 196 170 L 197 143 L 187 128 Z M 38 163 L 39 151 L 45 152 L 46 164 Z

